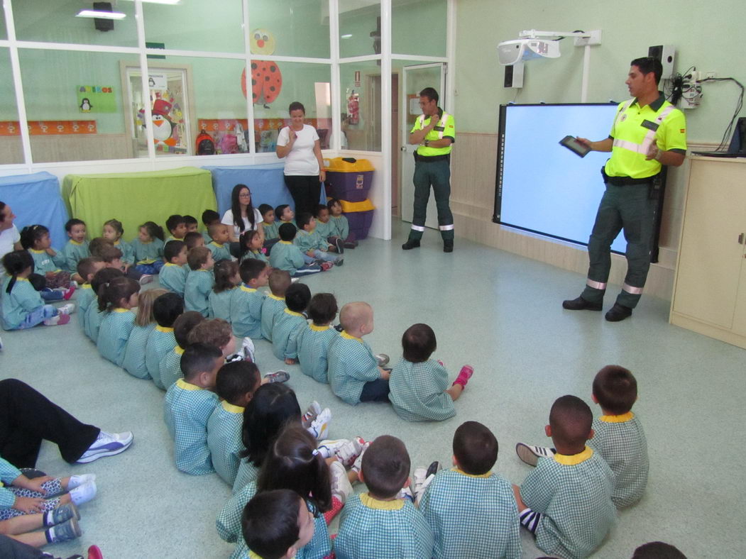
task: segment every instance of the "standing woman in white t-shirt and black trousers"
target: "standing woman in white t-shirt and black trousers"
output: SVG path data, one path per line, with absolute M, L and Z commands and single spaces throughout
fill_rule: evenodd
M 285 185 L 295 201 L 295 214 L 316 213 L 322 186 L 326 180 L 322 145 L 316 128 L 304 124 L 306 110 L 293 101 L 289 107 L 290 126 L 280 130 L 277 154 L 285 162 Z

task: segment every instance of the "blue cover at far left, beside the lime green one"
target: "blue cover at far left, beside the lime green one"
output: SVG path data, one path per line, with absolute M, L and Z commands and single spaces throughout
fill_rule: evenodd
M 13 223 L 19 231 L 27 225 L 40 224 L 48 227 L 54 249 L 65 246 L 67 209 L 60 195 L 60 181 L 53 174 L 0 177 L 0 201 L 13 209 L 17 216 Z

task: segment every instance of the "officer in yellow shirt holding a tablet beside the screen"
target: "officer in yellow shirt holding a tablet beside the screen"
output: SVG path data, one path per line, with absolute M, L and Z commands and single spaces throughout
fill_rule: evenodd
M 612 155 L 601 171 L 606 192 L 588 241 L 586 288 L 577 299 L 564 301 L 565 309 L 601 310 L 610 247 L 621 229 L 627 239 L 627 276 L 606 320 L 618 322 L 632 315 L 642 295 L 650 268 L 661 166 L 678 167 L 686 156 L 686 120 L 658 91 L 661 74 L 659 60 L 633 60 L 625 82 L 633 98 L 619 104 L 609 137 L 598 142 L 578 138 L 592 150 Z

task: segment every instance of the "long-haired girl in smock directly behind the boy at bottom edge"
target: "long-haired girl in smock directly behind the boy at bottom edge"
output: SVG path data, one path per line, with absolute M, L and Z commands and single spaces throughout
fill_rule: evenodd
M 334 462 L 339 464 L 339 462 Z M 342 467 L 342 472 L 344 467 Z M 342 476 L 344 477 L 344 476 Z M 237 542 L 231 558 L 248 555 L 241 537 L 241 513 L 257 493 L 277 489 L 290 489 L 307 499 L 308 510 L 313 512 L 315 534 L 312 540 L 298 550 L 297 558 L 325 558 L 331 554 L 331 540 L 323 513 L 332 507 L 333 474 L 316 450 L 316 440 L 297 423 L 285 426 L 272 443 L 259 477 L 235 493 L 225 504 L 216 521 L 220 537 Z M 347 484 L 350 493 L 352 487 Z M 346 495 L 342 495 L 346 499 Z M 342 501 L 343 502 L 343 501 Z

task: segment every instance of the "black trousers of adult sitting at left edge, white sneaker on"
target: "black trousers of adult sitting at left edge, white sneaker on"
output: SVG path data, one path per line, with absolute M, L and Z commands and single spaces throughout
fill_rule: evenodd
M 73 463 L 98 437 L 101 429 L 76 420 L 18 379 L 0 381 L 0 456 L 19 468 L 33 468 L 42 440 L 60 447 Z

